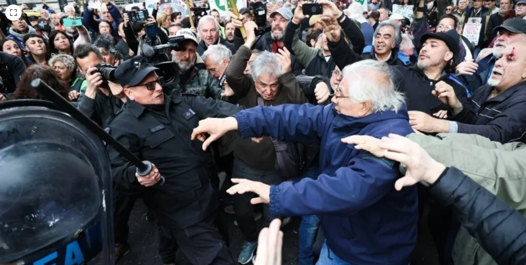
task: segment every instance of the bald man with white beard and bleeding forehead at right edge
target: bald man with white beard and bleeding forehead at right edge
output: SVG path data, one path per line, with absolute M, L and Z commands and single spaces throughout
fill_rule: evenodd
M 495 61 L 488 84 L 471 99 L 474 112 L 464 108 L 451 90 L 436 89 L 433 95 L 447 102 L 452 119 L 439 120 L 433 132 L 478 134 L 501 143 L 526 143 L 526 41 L 508 45 Z

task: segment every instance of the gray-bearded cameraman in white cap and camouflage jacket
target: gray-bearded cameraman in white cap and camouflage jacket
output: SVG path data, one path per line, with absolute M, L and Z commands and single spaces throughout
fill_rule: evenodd
M 227 98 L 221 97 L 224 91 L 219 85 L 219 80 L 210 75 L 206 69 L 200 70 L 195 66 L 198 44 L 194 33 L 190 29 L 181 29 L 177 31 L 175 36 L 185 38 L 179 43 L 182 47 L 181 50 L 175 51 L 173 54 L 173 60 L 179 68 L 179 83 L 165 88 L 165 92 L 170 94 L 171 91 L 177 90 L 181 93 L 192 93 L 207 98 L 226 100 Z

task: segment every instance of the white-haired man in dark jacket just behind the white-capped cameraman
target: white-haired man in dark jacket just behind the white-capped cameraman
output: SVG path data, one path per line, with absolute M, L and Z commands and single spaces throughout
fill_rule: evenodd
M 210 45 L 222 44 L 225 45 L 232 54 L 236 53 L 234 44 L 231 44 L 225 38 L 221 37 L 221 26 L 219 22 L 210 15 L 206 15 L 199 19 L 199 24 L 197 24 L 197 33 L 201 41 L 197 46 L 197 53 L 203 55 L 203 53 L 208 49 Z

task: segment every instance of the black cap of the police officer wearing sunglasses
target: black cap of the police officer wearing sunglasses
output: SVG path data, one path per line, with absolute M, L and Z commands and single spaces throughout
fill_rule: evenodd
M 120 66 L 115 70 L 115 78 L 123 88 L 135 87 L 157 69 L 150 65 L 145 58 L 135 56 L 120 63 Z

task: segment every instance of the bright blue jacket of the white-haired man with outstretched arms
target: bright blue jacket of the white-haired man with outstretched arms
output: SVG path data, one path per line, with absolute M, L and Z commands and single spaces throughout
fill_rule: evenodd
M 284 104 L 243 110 L 235 116 L 242 137 L 320 144 L 315 181 L 284 182 L 270 189 L 273 216 L 320 215 L 326 243 L 357 265 L 407 265 L 417 242 L 416 186 L 395 190 L 398 164 L 343 144 L 350 135 L 381 138 L 412 131 L 407 110 L 353 118 L 334 104 Z

